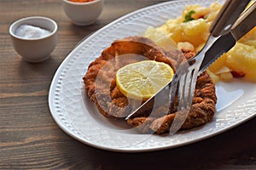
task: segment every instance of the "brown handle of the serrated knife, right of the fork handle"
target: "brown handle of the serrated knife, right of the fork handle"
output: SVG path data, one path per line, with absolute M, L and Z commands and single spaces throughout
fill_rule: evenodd
M 236 41 L 243 37 L 247 31 L 256 25 L 256 1 L 254 1 L 236 20 L 231 28 L 231 33 Z

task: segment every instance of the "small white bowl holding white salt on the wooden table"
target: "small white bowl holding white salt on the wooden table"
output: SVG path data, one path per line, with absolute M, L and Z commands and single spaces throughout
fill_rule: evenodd
M 20 26 L 35 26 L 38 29 L 50 31 L 44 37 L 20 37 L 17 36 L 17 29 Z M 54 20 L 42 16 L 32 16 L 15 21 L 9 27 L 9 34 L 15 51 L 29 62 L 40 62 L 49 58 L 49 54 L 55 49 L 57 43 L 58 26 Z

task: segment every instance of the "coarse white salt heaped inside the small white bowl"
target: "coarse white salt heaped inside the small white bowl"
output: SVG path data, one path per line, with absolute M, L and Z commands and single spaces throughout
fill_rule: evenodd
M 49 30 L 42 29 L 38 26 L 21 25 L 15 31 L 15 35 L 27 39 L 45 37 L 50 34 Z

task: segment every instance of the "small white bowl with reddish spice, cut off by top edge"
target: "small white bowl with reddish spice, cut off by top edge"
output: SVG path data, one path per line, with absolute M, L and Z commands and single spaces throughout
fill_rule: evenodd
M 102 14 L 103 0 L 94 0 L 87 3 L 62 0 L 61 4 L 67 17 L 77 26 L 89 26 Z

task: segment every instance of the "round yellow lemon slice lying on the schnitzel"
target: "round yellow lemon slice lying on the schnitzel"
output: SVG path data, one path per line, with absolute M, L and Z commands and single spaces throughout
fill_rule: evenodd
M 121 67 L 116 73 L 116 84 L 126 97 L 146 100 L 172 81 L 173 75 L 170 65 L 143 60 Z

